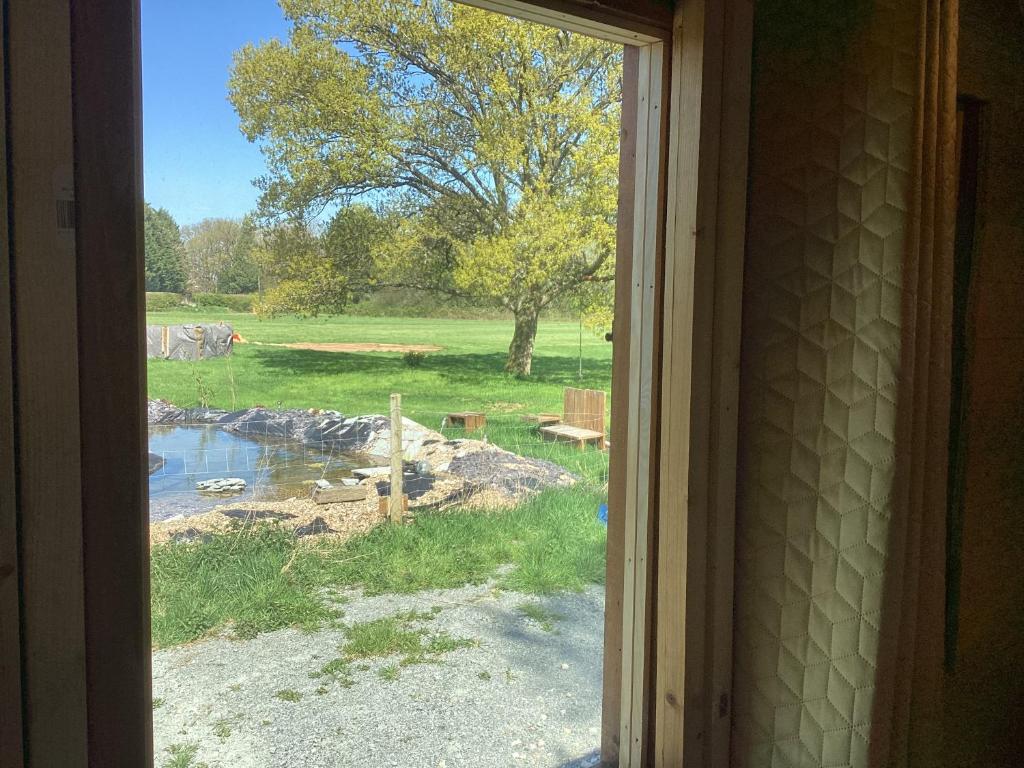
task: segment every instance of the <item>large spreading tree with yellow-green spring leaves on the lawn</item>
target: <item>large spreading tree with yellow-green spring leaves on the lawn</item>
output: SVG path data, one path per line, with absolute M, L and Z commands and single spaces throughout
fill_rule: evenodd
M 528 374 L 541 310 L 613 271 L 621 46 L 446 0 L 280 0 L 230 98 L 268 216 L 402 212 L 382 281 L 498 299 Z

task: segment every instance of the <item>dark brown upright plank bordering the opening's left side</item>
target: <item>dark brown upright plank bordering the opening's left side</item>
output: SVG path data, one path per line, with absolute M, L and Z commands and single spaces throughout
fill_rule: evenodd
M 72 3 L 71 25 L 89 765 L 133 768 L 153 760 L 138 6 Z

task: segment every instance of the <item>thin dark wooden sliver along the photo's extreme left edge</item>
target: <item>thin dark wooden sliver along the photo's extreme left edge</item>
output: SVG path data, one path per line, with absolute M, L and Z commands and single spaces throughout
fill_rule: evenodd
M 0 5 L 0 29 L 5 8 Z M 5 50 L 0 46 L 0 72 Z M 4 82 L 0 78 L 0 95 Z M 7 189 L 6 111 L 0 112 L 0 189 Z M 11 349 L 10 251 L 7 207 L 0 211 L 0 765 L 20 768 L 22 642 L 14 464 L 14 358 Z

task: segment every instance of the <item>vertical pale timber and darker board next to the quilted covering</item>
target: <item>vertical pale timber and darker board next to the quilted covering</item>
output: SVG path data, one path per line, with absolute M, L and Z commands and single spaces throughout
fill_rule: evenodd
M 676 11 L 655 766 L 728 765 L 752 16 L 749 0 L 684 0 Z

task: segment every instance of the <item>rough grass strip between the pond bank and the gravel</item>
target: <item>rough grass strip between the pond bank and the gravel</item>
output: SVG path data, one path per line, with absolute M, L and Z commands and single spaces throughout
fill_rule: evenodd
M 270 525 L 195 544 L 155 547 L 153 643 L 166 647 L 230 628 L 239 638 L 339 621 L 332 589 L 369 594 L 480 584 L 499 566 L 507 589 L 551 594 L 604 581 L 599 492 L 548 490 L 501 514 L 421 515 L 345 544 L 308 545 Z M 540 621 L 540 620 L 538 620 Z M 547 621 L 551 621 L 547 617 Z M 353 651 L 354 652 L 354 651 Z

